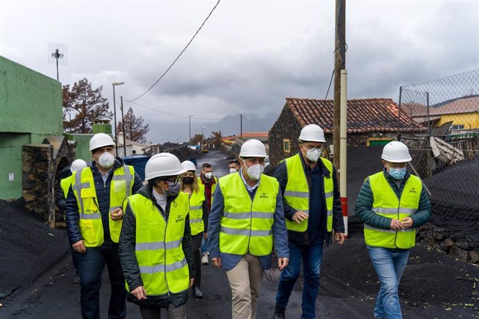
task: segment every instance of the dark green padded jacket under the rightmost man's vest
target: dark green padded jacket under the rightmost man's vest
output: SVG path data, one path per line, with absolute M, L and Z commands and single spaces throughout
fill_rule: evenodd
M 401 198 L 401 194 L 403 193 L 405 182 L 408 178 L 410 178 L 411 174 L 409 172 L 406 173 L 405 178 L 399 185 L 396 185 L 396 182 L 392 178 L 389 177 L 386 169 L 383 170 L 385 174 L 387 182 L 391 185 L 391 188 L 396 193 L 398 198 Z M 383 228 L 389 230 L 389 226 L 391 225 L 391 218 L 380 216 L 373 212 L 371 208 L 373 207 L 374 196 L 373 192 L 371 191 L 371 185 L 369 184 L 369 177 L 364 181 L 362 184 L 360 193 L 358 194 L 358 199 L 356 200 L 355 206 L 355 214 L 358 216 L 360 221 L 363 223 L 367 223 L 372 227 L 376 228 Z M 419 227 L 429 221 L 431 214 L 431 205 L 429 202 L 428 194 L 426 193 L 426 189 L 422 189 L 421 196 L 419 197 L 419 207 L 417 212 L 412 214 L 410 217 L 414 221 L 412 227 Z

